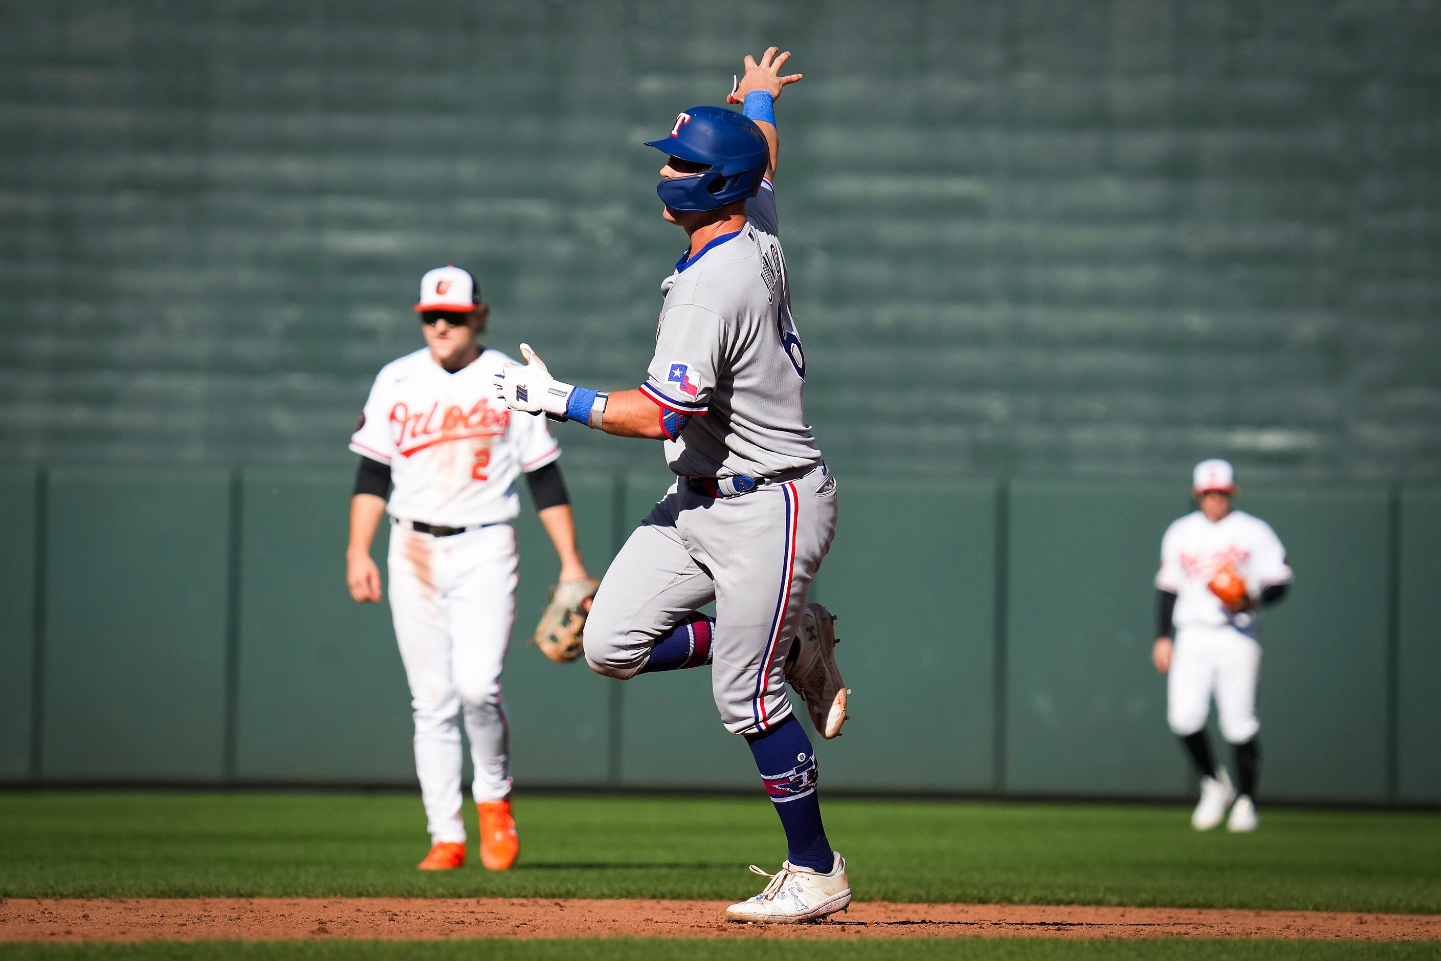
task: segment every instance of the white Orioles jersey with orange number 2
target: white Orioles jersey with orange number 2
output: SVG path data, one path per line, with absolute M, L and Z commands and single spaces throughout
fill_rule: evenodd
M 470 527 L 520 513 L 516 477 L 558 458 L 561 447 L 543 416 L 496 399 L 491 376 L 507 362 L 483 350 L 450 373 L 422 347 L 380 367 L 350 450 L 391 465 L 392 516 Z

